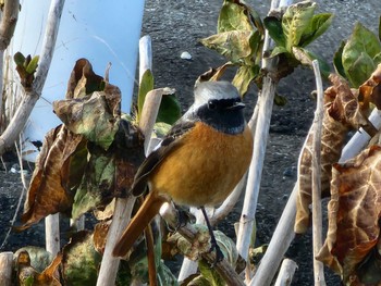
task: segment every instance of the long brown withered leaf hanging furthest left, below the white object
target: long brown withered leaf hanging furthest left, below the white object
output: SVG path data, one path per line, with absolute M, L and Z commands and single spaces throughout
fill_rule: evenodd
M 78 147 L 84 148 L 83 137 L 72 134 L 63 125 L 46 135 L 27 190 L 21 217 L 24 225 L 16 229 L 25 229 L 49 214 L 71 209 L 73 188 L 83 174 L 83 154 L 82 151 L 77 153 Z

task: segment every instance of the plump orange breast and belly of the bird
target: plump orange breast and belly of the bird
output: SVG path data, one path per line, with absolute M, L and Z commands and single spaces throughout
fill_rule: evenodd
M 242 134 L 228 135 L 204 125 L 186 136 L 189 137 L 186 144 L 172 151 L 157 167 L 150 185 L 179 204 L 219 204 L 250 163 L 251 134 L 246 128 Z

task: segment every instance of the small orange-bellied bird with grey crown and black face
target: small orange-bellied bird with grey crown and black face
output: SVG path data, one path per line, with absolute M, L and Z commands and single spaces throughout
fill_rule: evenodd
M 217 260 L 223 259 L 205 207 L 222 203 L 246 173 L 253 135 L 238 90 L 229 82 L 195 85 L 194 103 L 138 167 L 131 191 L 148 195 L 115 244 L 125 257 L 164 202 L 200 208 Z M 222 257 L 221 257 L 222 256 Z

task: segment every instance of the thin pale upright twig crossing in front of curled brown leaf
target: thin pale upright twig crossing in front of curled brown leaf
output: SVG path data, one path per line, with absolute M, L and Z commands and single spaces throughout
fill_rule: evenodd
M 323 122 L 323 87 L 317 60 L 312 61 L 317 85 L 317 108 L 314 119 L 312 144 L 312 245 L 314 245 L 314 277 L 315 285 L 325 285 L 324 266 L 321 261 L 315 259 L 322 246 L 322 214 L 321 214 L 321 130 Z

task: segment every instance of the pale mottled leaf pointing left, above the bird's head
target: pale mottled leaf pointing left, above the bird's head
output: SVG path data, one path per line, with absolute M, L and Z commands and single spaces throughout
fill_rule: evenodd
M 250 38 L 254 35 L 248 30 L 231 30 L 204 38 L 200 42 L 209 49 L 216 50 L 233 63 L 242 63 L 251 54 Z

